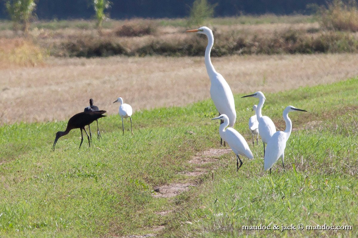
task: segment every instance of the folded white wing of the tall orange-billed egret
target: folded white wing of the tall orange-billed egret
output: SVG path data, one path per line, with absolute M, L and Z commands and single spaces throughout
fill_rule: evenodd
M 229 126 L 232 127 L 236 121 L 236 111 L 231 88 L 221 74 L 216 73 L 210 77 L 213 77 L 210 87 L 211 99 L 219 113 L 226 114 L 229 118 Z

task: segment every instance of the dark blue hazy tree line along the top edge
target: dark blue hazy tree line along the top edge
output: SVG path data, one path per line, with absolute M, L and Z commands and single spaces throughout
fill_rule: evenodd
M 4 2 L 0 0 L 0 19 L 10 19 Z M 38 0 L 35 15 L 39 20 L 90 19 L 95 18 L 93 0 Z M 194 0 L 111 0 L 108 9 L 112 19 L 176 18 L 189 15 Z M 216 5 L 214 16 L 237 16 L 240 14 L 309 14 L 308 4 L 325 5 L 326 0 L 208 0 Z

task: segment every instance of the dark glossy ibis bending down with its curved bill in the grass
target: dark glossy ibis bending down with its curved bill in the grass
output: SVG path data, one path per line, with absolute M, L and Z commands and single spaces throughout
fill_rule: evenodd
M 84 128 L 85 126 L 89 126 L 89 124 L 91 124 L 92 122 L 96 121 L 98 118 L 101 117 L 105 117 L 105 115 L 102 115 L 103 113 L 106 113 L 106 111 L 88 111 L 88 112 L 80 112 L 77 113 L 76 115 L 74 115 L 73 117 L 69 118 L 68 123 L 67 123 L 67 128 L 66 131 L 58 131 L 56 133 L 56 138 L 55 141 L 53 142 L 53 146 L 52 146 L 52 150 L 55 150 L 55 146 L 57 143 L 58 138 L 60 138 L 61 136 L 67 135 L 69 131 L 71 131 L 72 129 L 76 129 L 79 128 L 81 130 L 81 143 L 79 144 L 79 148 L 81 148 L 82 142 L 83 142 L 83 133 L 82 130 L 84 130 L 84 132 L 87 131 Z M 87 134 L 87 138 L 88 138 L 88 145 L 89 147 L 91 147 L 91 143 L 89 142 L 89 136 Z

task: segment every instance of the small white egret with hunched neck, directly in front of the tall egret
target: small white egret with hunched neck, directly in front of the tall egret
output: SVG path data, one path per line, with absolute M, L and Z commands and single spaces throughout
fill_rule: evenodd
M 215 120 L 215 119 L 223 120 L 223 123 L 221 123 L 221 125 L 219 127 L 219 133 L 220 133 L 221 138 L 223 138 L 223 140 L 229 144 L 231 150 L 235 153 L 235 155 L 236 155 L 236 171 L 238 171 L 238 169 L 242 166 L 242 161 L 241 161 L 239 155 L 245 156 L 249 159 L 253 159 L 253 155 L 250 150 L 250 147 L 248 147 L 247 142 L 242 137 L 242 135 L 239 132 L 237 132 L 234 128 L 228 127 L 225 130 L 225 128 L 227 126 L 229 126 L 229 122 L 230 122 L 229 118 L 225 114 L 222 114 L 222 115 L 215 117 L 211 120 Z M 240 166 L 239 166 L 239 160 L 240 160 Z

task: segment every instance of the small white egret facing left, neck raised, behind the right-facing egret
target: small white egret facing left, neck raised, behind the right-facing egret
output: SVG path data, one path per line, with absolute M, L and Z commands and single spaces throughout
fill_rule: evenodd
M 258 98 L 258 105 L 256 108 L 256 117 L 258 121 L 258 131 L 260 132 L 260 136 L 263 143 L 263 157 L 265 157 L 265 143 L 267 144 L 272 135 L 276 132 L 276 127 L 274 122 L 270 119 L 270 117 L 262 116 L 261 109 L 263 103 L 265 103 L 265 95 L 262 92 L 258 91 L 251 95 L 243 96 L 243 97 L 256 97 Z

